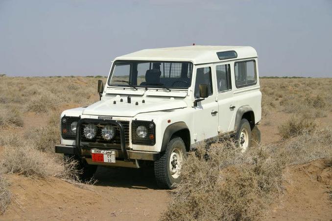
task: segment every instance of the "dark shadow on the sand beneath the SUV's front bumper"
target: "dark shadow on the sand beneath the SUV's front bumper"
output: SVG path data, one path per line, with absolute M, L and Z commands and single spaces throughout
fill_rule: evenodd
M 124 168 L 99 166 L 95 172 L 96 186 L 123 187 L 130 189 L 160 189 L 153 168 Z

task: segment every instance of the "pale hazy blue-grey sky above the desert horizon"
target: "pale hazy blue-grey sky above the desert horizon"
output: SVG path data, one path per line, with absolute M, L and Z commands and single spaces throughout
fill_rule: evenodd
M 0 0 L 0 73 L 108 75 L 144 48 L 250 45 L 261 76 L 332 77 L 332 0 Z

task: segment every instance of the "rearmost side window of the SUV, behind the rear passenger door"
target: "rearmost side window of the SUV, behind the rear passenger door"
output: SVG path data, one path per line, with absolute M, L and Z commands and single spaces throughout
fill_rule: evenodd
M 237 88 L 256 84 L 257 79 L 255 61 L 236 62 L 234 69 L 235 85 Z

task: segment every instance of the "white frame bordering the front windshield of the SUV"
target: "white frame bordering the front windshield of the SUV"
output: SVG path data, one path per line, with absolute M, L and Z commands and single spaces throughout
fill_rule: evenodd
M 192 79 L 193 79 L 193 72 L 194 72 L 194 64 L 192 61 L 169 61 L 169 60 L 122 60 L 122 59 L 118 59 L 118 60 L 115 60 L 112 64 L 112 68 L 111 68 L 111 71 L 110 71 L 110 74 L 109 74 L 109 77 L 108 77 L 108 80 L 107 80 L 107 88 L 132 88 L 131 86 L 129 85 L 114 85 L 114 84 L 111 84 L 111 80 L 112 80 L 112 77 L 113 77 L 113 71 L 114 71 L 114 68 L 115 66 L 117 65 L 118 62 L 138 62 L 138 63 L 189 63 L 191 65 L 191 77 L 190 77 L 190 81 L 189 81 L 189 86 L 188 88 L 180 88 L 180 87 L 170 87 L 170 86 L 167 86 L 165 85 L 167 88 L 169 88 L 170 90 L 188 90 L 191 86 L 192 86 Z M 162 87 L 162 86 L 158 86 L 158 85 L 135 85 L 136 88 L 138 89 L 165 89 L 167 90 L 165 87 Z

